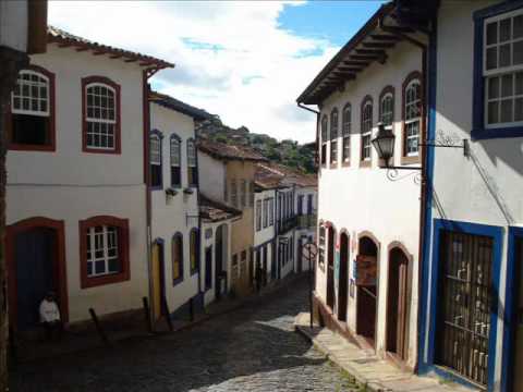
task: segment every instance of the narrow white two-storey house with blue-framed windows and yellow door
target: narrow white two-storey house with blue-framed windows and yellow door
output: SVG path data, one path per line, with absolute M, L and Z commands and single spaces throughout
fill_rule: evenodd
M 198 176 L 194 122 L 209 117 L 172 97 L 150 94 L 151 309 L 202 308 Z M 167 303 L 167 308 L 163 304 Z

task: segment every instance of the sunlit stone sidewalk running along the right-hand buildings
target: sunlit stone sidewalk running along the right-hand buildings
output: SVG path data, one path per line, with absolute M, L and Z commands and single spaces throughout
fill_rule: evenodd
M 469 388 L 441 381 L 431 377 L 419 377 L 400 370 L 389 362 L 378 358 L 374 352 L 362 350 L 356 344 L 319 327 L 309 326 L 309 313 L 301 313 L 294 320 L 297 332 L 307 338 L 327 358 L 345 370 L 356 381 L 374 392 L 471 392 Z

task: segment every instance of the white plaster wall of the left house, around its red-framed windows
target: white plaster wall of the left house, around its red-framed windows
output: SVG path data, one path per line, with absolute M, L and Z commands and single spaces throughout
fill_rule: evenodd
M 56 74 L 57 151 L 9 151 L 7 223 L 64 220 L 70 321 L 89 319 L 89 307 L 99 316 L 139 308 L 148 295 L 142 71 L 136 63 L 56 45 L 32 62 Z M 89 75 L 121 85 L 121 155 L 82 152 L 81 78 Z M 101 215 L 129 219 L 131 279 L 82 290 L 78 221 Z

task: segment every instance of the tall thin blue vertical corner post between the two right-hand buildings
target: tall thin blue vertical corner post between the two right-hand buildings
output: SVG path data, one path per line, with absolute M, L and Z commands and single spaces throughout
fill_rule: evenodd
M 427 75 L 427 106 L 428 106 L 428 126 L 427 126 L 427 139 L 434 140 L 436 138 L 436 103 L 437 103 L 437 54 L 438 54 L 438 32 L 437 32 L 437 20 L 435 19 L 433 26 L 434 29 L 430 33 L 429 44 L 428 44 L 428 75 Z M 434 146 L 427 146 L 426 154 L 426 169 L 425 169 L 425 182 L 426 182 L 426 203 L 425 203 L 425 221 L 423 222 L 423 255 L 422 255 L 422 295 L 421 295 L 421 306 L 418 311 L 422 313 L 419 317 L 418 326 L 418 346 L 417 346 L 417 368 L 421 372 L 423 370 L 423 357 L 425 354 L 425 341 L 426 341 L 426 326 L 428 320 L 426 319 L 426 305 L 428 302 L 428 271 L 429 271 L 429 261 L 430 261 L 430 245 L 431 245 L 431 222 L 433 222 L 433 186 L 434 186 L 434 164 L 435 164 L 435 148 Z

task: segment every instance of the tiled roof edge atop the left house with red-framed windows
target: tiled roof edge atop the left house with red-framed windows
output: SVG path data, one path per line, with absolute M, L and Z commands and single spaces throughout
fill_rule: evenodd
M 110 54 L 111 59 L 121 59 L 125 62 L 137 61 L 139 62 L 141 66 L 154 68 L 157 70 L 174 66 L 174 64 L 170 62 L 154 58 L 151 56 L 95 42 L 53 26 L 48 26 L 47 28 L 47 40 L 48 42 L 56 42 L 60 47 L 76 47 L 77 51 L 93 50 L 95 54 Z

